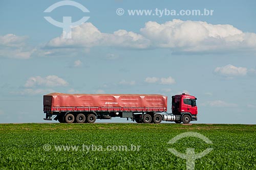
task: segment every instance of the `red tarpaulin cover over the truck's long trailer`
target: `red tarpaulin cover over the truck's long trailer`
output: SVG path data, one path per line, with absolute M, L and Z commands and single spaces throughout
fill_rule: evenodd
M 44 95 L 44 105 L 52 107 L 164 107 L 167 96 L 160 94 L 65 94 Z

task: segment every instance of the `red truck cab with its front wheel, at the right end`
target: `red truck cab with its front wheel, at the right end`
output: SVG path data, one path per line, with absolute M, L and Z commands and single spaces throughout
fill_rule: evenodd
M 176 123 L 190 122 L 197 120 L 197 98 L 188 93 L 182 93 L 172 96 L 172 112 L 174 115 L 180 116 L 180 120 Z

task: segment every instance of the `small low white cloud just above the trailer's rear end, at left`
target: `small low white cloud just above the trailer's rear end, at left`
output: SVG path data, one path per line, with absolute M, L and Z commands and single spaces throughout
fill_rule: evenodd
M 54 75 L 50 75 L 45 78 L 36 76 L 36 77 L 29 78 L 25 84 L 25 87 L 34 87 L 36 85 L 53 87 L 53 86 L 67 86 L 68 83 L 65 80 Z

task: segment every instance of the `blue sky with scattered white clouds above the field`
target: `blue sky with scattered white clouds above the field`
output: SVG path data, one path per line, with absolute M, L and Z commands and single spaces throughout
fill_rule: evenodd
M 57 2 L 0 2 L 0 123 L 44 122 L 42 95 L 53 91 L 158 93 L 169 108 L 172 95 L 187 91 L 198 98 L 195 123 L 255 124 L 255 1 L 76 1 L 90 13 L 72 6 L 44 13 Z M 127 12 L 156 8 L 214 13 Z M 90 19 L 72 39 L 44 19 L 84 15 Z

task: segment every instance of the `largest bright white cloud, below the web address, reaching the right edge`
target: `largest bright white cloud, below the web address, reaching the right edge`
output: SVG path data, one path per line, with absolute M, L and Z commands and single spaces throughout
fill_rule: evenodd
M 146 22 L 140 32 L 152 46 L 176 48 L 176 51 L 207 53 L 250 48 L 255 52 L 256 49 L 256 34 L 243 33 L 231 25 L 174 19 L 163 24 Z

